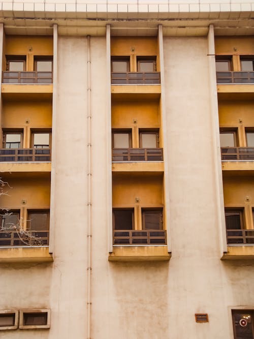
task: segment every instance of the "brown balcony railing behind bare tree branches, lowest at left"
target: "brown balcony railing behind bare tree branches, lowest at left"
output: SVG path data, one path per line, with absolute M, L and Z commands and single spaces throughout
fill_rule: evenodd
M 49 244 L 49 231 L 1 231 L 0 247 L 3 246 L 43 246 Z

